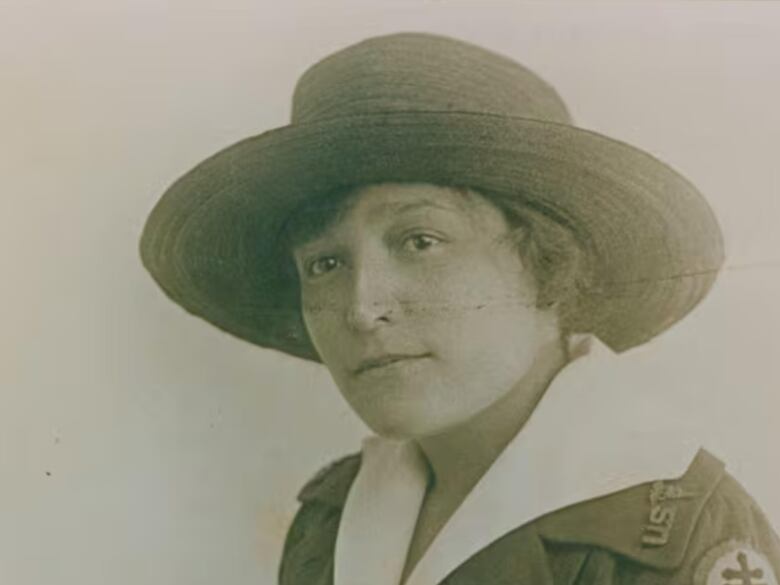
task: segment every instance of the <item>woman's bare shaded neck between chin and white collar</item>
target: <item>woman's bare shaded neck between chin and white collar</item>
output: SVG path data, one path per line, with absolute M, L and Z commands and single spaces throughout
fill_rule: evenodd
M 432 472 L 429 497 L 457 506 L 523 428 L 568 359 L 565 344 L 551 342 L 506 396 L 457 427 L 417 439 Z

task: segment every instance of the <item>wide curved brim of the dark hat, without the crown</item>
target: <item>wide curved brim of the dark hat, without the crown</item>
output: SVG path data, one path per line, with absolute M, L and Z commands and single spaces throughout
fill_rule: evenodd
M 518 193 L 584 234 L 597 286 L 588 331 L 615 351 L 651 339 L 707 294 L 723 262 L 698 190 L 649 154 L 565 124 L 458 112 L 336 118 L 230 146 L 152 210 L 144 265 L 187 311 L 251 343 L 316 360 L 278 236 L 333 189 L 427 182 Z

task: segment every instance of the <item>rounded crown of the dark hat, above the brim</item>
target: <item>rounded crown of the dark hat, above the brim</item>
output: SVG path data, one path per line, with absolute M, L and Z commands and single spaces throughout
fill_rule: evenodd
M 447 111 L 571 124 L 563 100 L 532 71 L 470 43 L 427 33 L 374 37 L 319 61 L 296 85 L 292 122 Z

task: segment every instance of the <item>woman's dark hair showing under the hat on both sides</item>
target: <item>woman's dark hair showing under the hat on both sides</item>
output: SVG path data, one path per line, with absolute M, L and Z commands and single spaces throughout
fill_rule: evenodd
M 327 196 L 307 201 L 291 213 L 285 222 L 279 242 L 280 258 L 285 272 L 297 282 L 298 273 L 292 250 L 321 235 L 349 210 L 354 196 L 364 185 L 341 187 Z M 480 188 L 444 186 L 467 199 L 474 196 L 492 203 L 506 218 L 510 237 L 520 258 L 537 284 L 536 304 L 554 307 L 564 336 L 585 333 L 578 322 L 580 301 L 593 281 L 587 238 L 555 210 L 530 202 L 527 198 Z

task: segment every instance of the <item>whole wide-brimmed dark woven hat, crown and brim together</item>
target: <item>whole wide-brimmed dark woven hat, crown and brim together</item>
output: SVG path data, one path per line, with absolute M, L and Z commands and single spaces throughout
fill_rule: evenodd
M 289 125 L 187 172 L 152 210 L 144 265 L 190 313 L 318 360 L 280 232 L 307 201 L 425 182 L 522 197 L 587 242 L 583 331 L 641 344 L 707 294 L 721 233 L 698 190 L 649 154 L 575 127 L 554 89 L 511 59 L 425 33 L 375 37 L 309 68 Z

